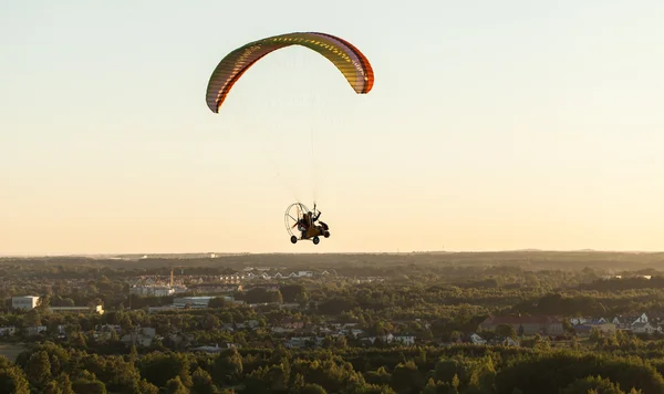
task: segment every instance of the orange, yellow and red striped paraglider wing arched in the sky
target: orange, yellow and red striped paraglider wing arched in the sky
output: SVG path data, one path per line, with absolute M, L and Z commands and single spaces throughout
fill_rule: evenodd
M 373 87 L 373 69 L 353 44 L 325 33 L 295 32 L 253 41 L 226 55 L 210 76 L 206 94 L 208 107 L 218 113 L 232 85 L 251 65 L 270 52 L 290 45 L 307 46 L 328 58 L 357 94 L 366 94 Z

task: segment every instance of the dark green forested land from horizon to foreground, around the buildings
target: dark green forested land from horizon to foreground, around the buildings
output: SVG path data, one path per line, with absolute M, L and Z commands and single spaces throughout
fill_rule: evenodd
M 0 353 L 15 351 L 0 356 L 0 393 L 664 393 L 663 263 L 593 251 L 3 258 Z M 133 292 L 172 280 L 185 290 Z M 23 296 L 38 304 L 14 308 Z M 209 302 L 164 309 L 197 297 Z M 73 305 L 104 313 L 58 309 Z M 529 331 L 540 317 L 560 331 Z

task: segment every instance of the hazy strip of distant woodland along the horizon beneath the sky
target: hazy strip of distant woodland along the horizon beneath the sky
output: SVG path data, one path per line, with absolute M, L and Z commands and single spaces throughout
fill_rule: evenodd
M 496 251 L 496 252 L 416 252 L 416 253 L 310 253 L 310 255 L 177 255 L 173 257 L 92 258 L 40 257 L 0 258 L 0 266 L 95 266 L 131 270 L 162 269 L 165 267 L 207 267 L 241 270 L 248 267 L 289 269 L 334 267 L 341 269 L 403 266 L 424 267 L 520 267 L 529 270 L 578 270 L 582 267 L 605 270 L 664 269 L 664 252 L 606 252 L 606 251 Z M 210 272 L 214 272 L 211 270 Z M 203 273 L 203 272 L 201 272 Z

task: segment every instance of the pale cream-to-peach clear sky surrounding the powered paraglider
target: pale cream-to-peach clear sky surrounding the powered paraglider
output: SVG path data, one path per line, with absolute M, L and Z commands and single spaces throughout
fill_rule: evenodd
M 661 0 L 1 0 L 0 255 L 663 250 L 663 20 Z M 354 43 L 373 91 L 289 48 L 208 110 L 224 55 L 293 31 Z M 295 198 L 330 239 L 290 243 Z

